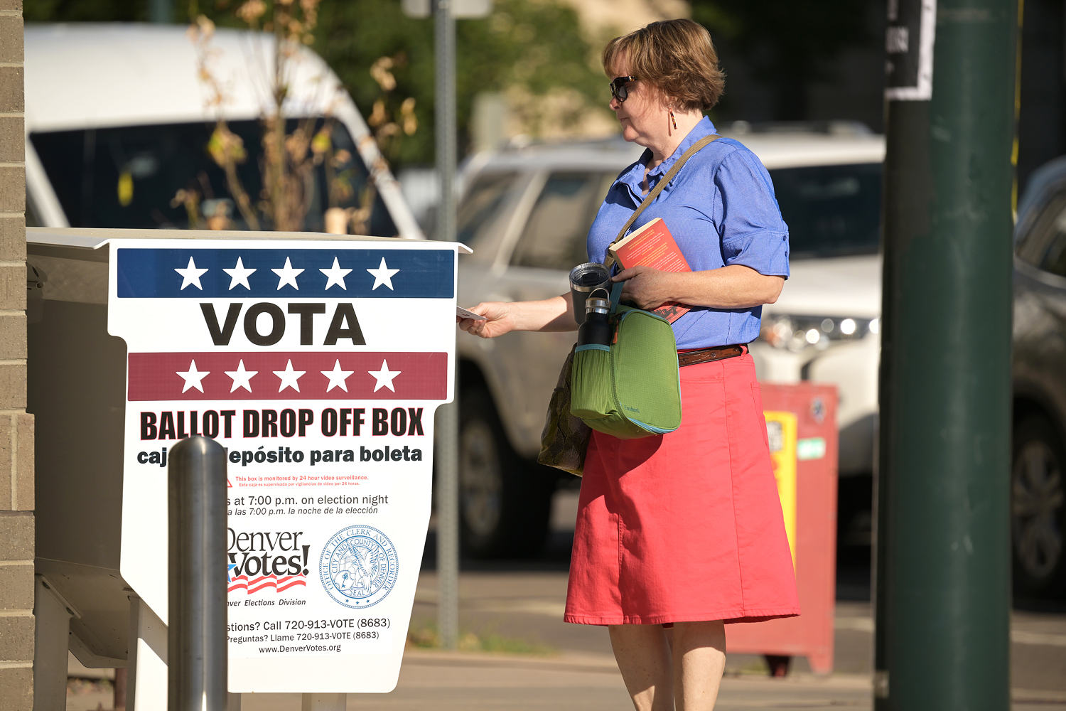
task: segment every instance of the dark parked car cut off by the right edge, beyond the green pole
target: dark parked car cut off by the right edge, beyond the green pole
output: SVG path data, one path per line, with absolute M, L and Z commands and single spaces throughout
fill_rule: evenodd
M 1066 595 L 1066 157 L 1034 173 L 1014 257 L 1011 540 L 1018 596 Z

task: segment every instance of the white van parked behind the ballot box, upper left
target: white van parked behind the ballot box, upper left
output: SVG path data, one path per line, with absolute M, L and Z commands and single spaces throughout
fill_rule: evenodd
M 207 146 L 224 117 L 243 140 L 247 158 L 238 174 L 249 198 L 258 200 L 272 35 L 214 33 L 208 66 L 226 97 L 219 107 L 208 106 L 211 92 L 199 77 L 197 50 L 184 27 L 31 25 L 25 39 L 27 225 L 206 228 L 212 215 L 228 214 L 226 228 L 249 228 Z M 289 122 L 332 117 L 334 156 L 350 157 L 329 166 L 334 180 L 327 181 L 324 164 L 311 171 L 302 229 L 327 231 L 326 210 L 359 207 L 370 177 L 376 190 L 364 233 L 421 239 L 399 184 L 337 76 L 307 48 L 289 68 Z M 330 196 L 327 185 L 337 176 L 345 189 Z M 194 210 L 175 199 L 181 190 L 198 195 Z

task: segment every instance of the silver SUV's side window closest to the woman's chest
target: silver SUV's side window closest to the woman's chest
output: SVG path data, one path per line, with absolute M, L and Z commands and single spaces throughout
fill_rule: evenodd
M 567 270 L 588 261 L 585 239 L 614 176 L 552 173 L 512 256 L 516 266 Z

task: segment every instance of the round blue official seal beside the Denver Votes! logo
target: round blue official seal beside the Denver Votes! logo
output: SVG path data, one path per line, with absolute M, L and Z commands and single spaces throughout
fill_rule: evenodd
M 370 526 L 349 526 L 322 548 L 322 586 L 337 602 L 359 610 L 377 604 L 397 582 L 399 560 L 389 537 Z

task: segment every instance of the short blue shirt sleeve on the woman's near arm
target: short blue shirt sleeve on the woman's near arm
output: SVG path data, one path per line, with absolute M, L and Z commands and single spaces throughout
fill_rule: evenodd
M 750 151 L 733 150 L 718 165 L 714 184 L 723 261 L 788 277 L 789 228 L 766 168 Z

